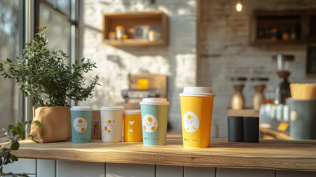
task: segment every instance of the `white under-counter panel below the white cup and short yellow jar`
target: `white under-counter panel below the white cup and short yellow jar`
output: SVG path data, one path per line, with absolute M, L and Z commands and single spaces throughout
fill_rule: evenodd
M 155 165 L 106 163 L 106 177 L 155 177 Z

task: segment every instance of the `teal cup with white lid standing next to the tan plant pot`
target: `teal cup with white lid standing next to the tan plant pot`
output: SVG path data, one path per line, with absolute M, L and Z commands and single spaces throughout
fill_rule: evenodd
M 92 112 L 90 106 L 73 106 L 71 112 L 71 141 L 73 143 L 91 142 Z

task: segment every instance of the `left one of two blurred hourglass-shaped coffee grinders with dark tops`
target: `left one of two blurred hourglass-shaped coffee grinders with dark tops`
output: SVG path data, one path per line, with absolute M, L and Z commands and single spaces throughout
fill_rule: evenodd
M 234 95 L 232 97 L 231 107 L 234 110 L 244 109 L 245 98 L 244 98 L 244 95 L 242 94 L 242 89 L 245 86 L 247 78 L 246 77 L 232 77 L 230 80 L 233 82 L 233 86 L 235 90 Z

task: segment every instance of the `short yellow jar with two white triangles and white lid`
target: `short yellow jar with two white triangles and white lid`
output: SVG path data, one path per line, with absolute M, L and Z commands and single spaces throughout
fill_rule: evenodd
M 124 141 L 143 142 L 141 110 L 124 111 Z

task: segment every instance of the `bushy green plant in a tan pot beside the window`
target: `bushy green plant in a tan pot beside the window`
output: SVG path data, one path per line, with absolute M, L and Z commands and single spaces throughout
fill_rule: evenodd
M 20 57 L 7 58 L 0 63 L 0 75 L 16 80 L 19 90 L 31 96 L 34 101 L 33 120 L 44 127 L 32 124 L 31 135 L 39 143 L 57 142 L 71 138 L 70 99 L 76 101 L 92 97 L 92 91 L 99 77 L 91 85 L 82 87 L 83 73 L 96 68 L 95 62 L 82 58 L 81 62 L 67 64 L 69 56 L 63 50 L 51 51 L 48 40 L 42 34 L 44 28 L 37 28 L 32 41 L 25 43 Z M 7 67 L 5 67 L 7 65 Z M 5 68 L 8 68 L 7 70 Z

